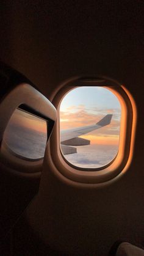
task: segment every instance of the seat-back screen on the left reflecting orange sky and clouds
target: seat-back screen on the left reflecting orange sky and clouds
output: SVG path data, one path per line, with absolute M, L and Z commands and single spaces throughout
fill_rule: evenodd
M 43 158 L 47 140 L 46 121 L 16 109 L 4 132 L 3 147 L 24 158 Z

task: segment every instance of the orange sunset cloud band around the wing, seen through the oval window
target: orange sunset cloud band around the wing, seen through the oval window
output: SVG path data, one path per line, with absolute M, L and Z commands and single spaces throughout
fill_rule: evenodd
M 112 110 L 107 109 L 107 114 L 112 112 Z M 113 114 L 113 113 L 112 113 Z M 60 130 L 76 128 L 81 126 L 93 125 L 99 120 L 101 120 L 104 115 L 95 115 L 80 109 L 77 112 L 60 112 Z M 100 145 L 118 145 L 119 141 L 119 126 L 120 122 L 118 120 L 112 119 L 110 125 L 98 130 L 92 131 L 91 133 L 85 134 L 84 139 L 90 140 L 91 144 Z

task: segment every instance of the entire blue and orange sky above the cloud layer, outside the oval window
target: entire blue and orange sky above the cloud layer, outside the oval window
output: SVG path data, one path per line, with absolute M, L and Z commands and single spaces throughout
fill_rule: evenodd
M 77 87 L 60 104 L 60 130 L 93 125 L 106 114 L 113 114 L 110 125 L 82 136 L 91 144 L 118 145 L 121 106 L 104 87 Z

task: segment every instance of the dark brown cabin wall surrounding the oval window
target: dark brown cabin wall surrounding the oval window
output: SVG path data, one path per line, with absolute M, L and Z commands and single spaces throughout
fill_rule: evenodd
M 63 252 L 107 255 L 118 240 L 144 237 L 142 10 L 93 1 L 6 3 L 2 9 L 1 60 L 24 73 L 51 99 L 73 76 L 104 75 L 126 86 L 137 106 L 134 157 L 110 186 L 68 186 L 45 156 L 40 192 L 26 218 L 46 244 Z M 2 26 L 1 24 L 1 26 Z

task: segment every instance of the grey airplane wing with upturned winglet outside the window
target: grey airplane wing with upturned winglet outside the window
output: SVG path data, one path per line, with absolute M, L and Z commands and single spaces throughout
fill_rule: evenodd
M 68 130 L 62 130 L 60 132 L 60 144 L 63 155 L 76 153 L 76 148 L 70 146 L 89 145 L 90 141 L 82 139 L 81 135 L 90 133 L 90 131 L 97 130 L 103 126 L 109 125 L 112 119 L 112 114 L 107 114 L 95 125 L 82 126 L 79 128 L 72 128 Z

